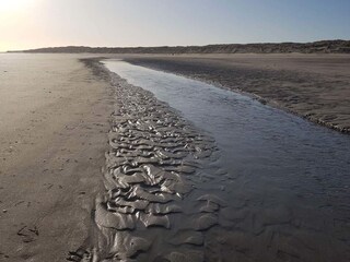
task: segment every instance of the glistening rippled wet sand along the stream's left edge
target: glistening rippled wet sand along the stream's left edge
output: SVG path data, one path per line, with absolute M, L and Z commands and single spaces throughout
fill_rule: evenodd
M 212 140 L 151 93 L 116 75 L 114 86 L 106 193 L 96 200 L 84 254 L 69 259 L 203 261 L 203 233 L 225 206 L 214 194 L 194 192 L 202 159 L 215 151 Z

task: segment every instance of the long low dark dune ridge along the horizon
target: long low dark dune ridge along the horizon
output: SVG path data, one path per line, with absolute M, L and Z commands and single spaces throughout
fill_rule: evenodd
M 161 47 L 48 47 L 9 52 L 60 52 L 60 53 L 350 53 L 350 40 L 320 40 L 313 43 L 225 44 L 207 46 Z

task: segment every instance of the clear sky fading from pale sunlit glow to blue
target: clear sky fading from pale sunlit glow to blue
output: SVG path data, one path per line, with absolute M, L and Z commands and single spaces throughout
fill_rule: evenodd
M 0 0 L 0 51 L 350 39 L 350 0 Z

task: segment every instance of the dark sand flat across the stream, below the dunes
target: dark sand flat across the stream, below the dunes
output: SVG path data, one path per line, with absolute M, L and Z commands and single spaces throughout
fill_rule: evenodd
M 349 55 L 136 56 L 125 60 L 246 92 L 313 122 L 350 131 Z

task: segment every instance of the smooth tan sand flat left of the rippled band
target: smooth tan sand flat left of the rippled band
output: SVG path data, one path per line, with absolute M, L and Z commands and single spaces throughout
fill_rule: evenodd
M 78 56 L 0 55 L 0 261 L 65 261 L 88 236 L 109 87 Z

